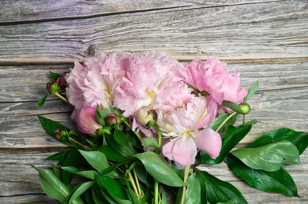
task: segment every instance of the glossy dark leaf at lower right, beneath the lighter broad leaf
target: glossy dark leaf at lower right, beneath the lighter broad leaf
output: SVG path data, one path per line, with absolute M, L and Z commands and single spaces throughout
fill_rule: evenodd
M 232 154 L 229 154 L 224 161 L 234 173 L 259 190 L 283 193 L 291 197 L 298 196 L 292 177 L 282 166 L 275 172 L 252 169 Z

